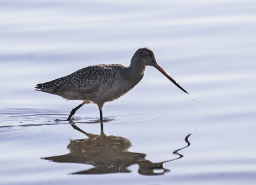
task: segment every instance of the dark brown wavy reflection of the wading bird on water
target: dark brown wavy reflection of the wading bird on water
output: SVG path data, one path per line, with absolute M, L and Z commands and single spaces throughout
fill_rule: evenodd
M 71 140 L 67 146 L 70 150 L 69 154 L 43 158 L 58 163 L 81 163 L 94 166 L 89 170 L 72 174 L 129 173 L 131 171 L 128 167 L 138 164 L 138 173 L 141 175 L 163 175 L 170 172 L 164 168 L 164 163 L 182 158 L 183 156 L 179 154 L 179 151 L 190 145 L 188 138 L 191 134 L 185 138 L 186 147 L 173 151 L 173 154 L 177 154 L 178 158 L 152 163 L 145 158 L 146 154 L 128 151 L 131 142 L 127 138 L 106 135 L 103 131 L 102 122 L 100 135 L 86 133 L 75 124 L 72 124 L 72 127 L 84 133 L 88 138 Z

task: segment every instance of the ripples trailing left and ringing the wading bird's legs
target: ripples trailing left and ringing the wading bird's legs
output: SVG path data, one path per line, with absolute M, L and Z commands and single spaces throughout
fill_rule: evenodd
M 70 121 L 65 119 L 54 119 L 56 117 L 67 117 L 62 113 L 52 109 L 36 108 L 8 108 L 0 110 L 0 128 L 12 128 L 17 126 L 43 126 L 72 123 L 97 124 L 99 117 L 81 117 L 74 116 Z M 158 114 L 118 114 L 104 117 L 104 122 L 111 123 L 130 123 L 144 122 L 157 119 Z

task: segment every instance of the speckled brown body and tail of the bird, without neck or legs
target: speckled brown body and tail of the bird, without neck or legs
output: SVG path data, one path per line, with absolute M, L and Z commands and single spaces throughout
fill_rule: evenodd
M 102 101 L 109 101 L 115 99 L 120 91 L 127 91 L 126 87 L 120 87 L 125 85 L 122 73 L 126 68 L 122 64 L 88 66 L 51 82 L 37 84 L 36 90 L 57 94 L 68 100 L 93 101 L 102 98 Z

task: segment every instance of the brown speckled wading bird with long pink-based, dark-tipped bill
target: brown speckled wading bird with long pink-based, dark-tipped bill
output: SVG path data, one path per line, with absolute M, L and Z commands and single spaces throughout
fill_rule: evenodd
M 139 48 L 132 57 L 130 66 L 123 64 L 88 66 L 51 82 L 37 84 L 35 89 L 62 96 L 67 100 L 82 100 L 83 103 L 72 109 L 67 121 L 77 109 L 87 103 L 98 105 L 100 121 L 103 121 L 102 107 L 104 103 L 120 98 L 138 84 L 143 78 L 146 66 L 154 66 L 173 84 L 188 93 L 157 64 L 154 52 L 150 48 Z

